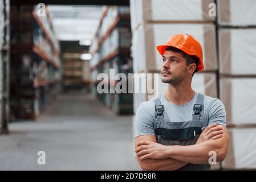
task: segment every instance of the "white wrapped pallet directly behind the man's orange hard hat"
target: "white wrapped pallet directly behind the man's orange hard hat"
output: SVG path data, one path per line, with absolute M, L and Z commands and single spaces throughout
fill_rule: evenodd
M 217 69 L 216 35 L 214 24 L 144 24 L 133 32 L 133 72 L 160 71 L 162 57 L 156 46 L 162 45 L 175 34 L 190 34 L 203 49 L 205 71 Z

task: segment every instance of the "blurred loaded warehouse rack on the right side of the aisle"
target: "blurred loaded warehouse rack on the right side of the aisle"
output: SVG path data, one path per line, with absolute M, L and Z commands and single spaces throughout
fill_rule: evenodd
M 91 90 L 109 109 L 116 114 L 133 113 L 132 94 L 116 93 L 117 80 L 115 75 L 132 72 L 130 59 L 131 24 L 128 6 L 106 6 L 100 18 L 95 38 L 92 40 L 90 53 L 93 55 L 90 61 Z M 111 69 L 114 69 L 113 75 Z M 104 89 L 99 93 L 97 79 L 99 73 L 105 73 L 107 79 Z M 129 84 L 127 82 L 127 84 Z

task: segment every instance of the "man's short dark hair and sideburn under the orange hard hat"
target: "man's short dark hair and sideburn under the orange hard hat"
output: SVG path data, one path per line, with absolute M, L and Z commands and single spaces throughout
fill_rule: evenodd
M 180 53 L 182 55 L 182 57 L 184 57 L 184 59 L 186 60 L 186 65 L 188 66 L 189 64 L 192 63 L 196 63 L 197 68 L 194 71 L 194 73 L 198 72 L 198 62 L 199 62 L 199 58 L 197 56 L 194 55 L 188 55 L 187 53 L 185 53 L 184 51 L 182 51 L 181 49 L 178 49 L 176 47 L 166 47 L 165 51 L 172 51 L 172 52 L 177 52 Z M 192 75 L 192 77 L 194 76 L 194 73 Z

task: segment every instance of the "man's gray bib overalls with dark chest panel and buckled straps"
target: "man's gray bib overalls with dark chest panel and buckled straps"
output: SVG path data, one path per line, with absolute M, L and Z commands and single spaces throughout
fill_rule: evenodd
M 193 107 L 192 121 L 170 122 L 168 114 L 161 105 L 159 97 L 155 100 L 155 134 L 157 143 L 168 146 L 188 146 L 195 144 L 202 128 L 208 126 L 204 114 L 204 95 L 198 93 L 196 104 Z M 210 164 L 187 164 L 178 170 L 210 170 Z

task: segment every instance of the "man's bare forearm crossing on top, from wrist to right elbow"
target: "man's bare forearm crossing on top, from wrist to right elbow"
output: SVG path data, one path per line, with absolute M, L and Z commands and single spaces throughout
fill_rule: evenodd
M 214 140 L 208 140 L 202 143 L 190 146 L 170 146 L 169 158 L 181 160 L 192 164 L 206 164 L 209 160 L 209 152 L 215 151 L 217 162 L 224 160 L 225 148 L 221 143 L 216 143 Z

